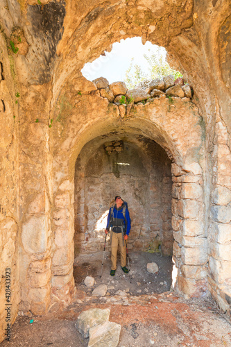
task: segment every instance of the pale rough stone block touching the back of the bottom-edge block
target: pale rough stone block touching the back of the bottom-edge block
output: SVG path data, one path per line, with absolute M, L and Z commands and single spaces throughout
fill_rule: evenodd
M 103 324 L 109 320 L 110 310 L 106 308 L 92 308 L 91 310 L 83 311 L 76 321 L 76 329 L 80 334 L 87 339 L 89 337 L 89 329 L 95 325 Z

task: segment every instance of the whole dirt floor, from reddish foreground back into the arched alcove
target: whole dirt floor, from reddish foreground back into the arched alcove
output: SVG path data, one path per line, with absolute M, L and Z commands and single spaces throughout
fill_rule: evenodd
M 93 307 L 109 308 L 110 321 L 121 325 L 119 347 L 231 346 L 231 325 L 211 298 L 186 301 L 169 291 L 170 257 L 131 253 L 129 275 L 124 275 L 119 266 L 112 278 L 107 254 L 101 278 L 102 257 L 99 256 L 75 260 L 78 289 L 72 305 L 46 316 L 18 316 L 12 327 L 11 341 L 3 341 L 0 346 L 87 347 L 89 340 L 79 334 L 75 322 L 80 312 Z M 146 271 L 146 263 L 153 261 L 160 267 L 155 275 Z M 83 285 L 86 276 L 96 279 L 94 287 L 107 285 L 106 296 L 92 296 L 93 289 Z M 118 289 L 127 295 L 116 295 Z

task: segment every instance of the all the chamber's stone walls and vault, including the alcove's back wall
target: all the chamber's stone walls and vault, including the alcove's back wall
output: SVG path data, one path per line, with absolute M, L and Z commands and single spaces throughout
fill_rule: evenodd
M 74 257 L 101 247 L 118 192 L 131 251 L 172 254 L 173 290 L 212 296 L 230 319 L 230 1 L 40 2 L 0 8 L 0 341 L 6 269 L 11 323 L 62 310 L 76 298 Z M 166 48 L 192 99 L 127 112 L 82 76 L 135 36 Z

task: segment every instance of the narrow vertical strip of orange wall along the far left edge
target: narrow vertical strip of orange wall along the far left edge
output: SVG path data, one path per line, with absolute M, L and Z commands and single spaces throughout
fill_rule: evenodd
M 19 295 L 19 90 L 15 64 L 0 33 L 0 341 L 12 337 Z M 16 96 L 17 94 L 17 96 Z M 8 329 L 8 330 L 6 330 Z M 8 335 L 5 335 L 8 334 Z

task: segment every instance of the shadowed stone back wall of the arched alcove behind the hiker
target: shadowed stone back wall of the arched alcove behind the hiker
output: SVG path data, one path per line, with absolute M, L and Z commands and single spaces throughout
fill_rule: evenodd
M 110 137 L 86 144 L 76 160 L 75 256 L 102 248 L 108 209 L 117 194 L 128 202 L 132 219 L 128 248 L 160 252 L 162 245 L 163 253 L 171 254 L 171 161 L 148 139 L 132 144 L 109 142 Z

